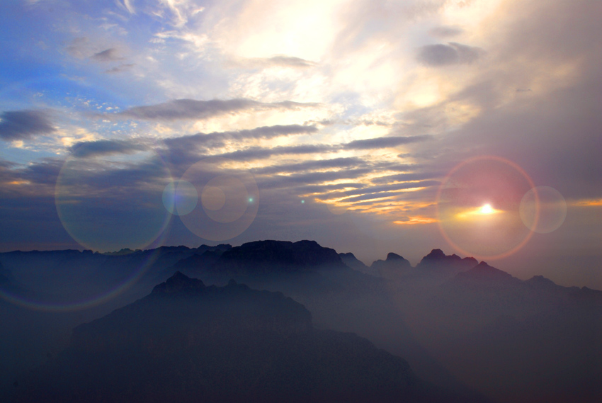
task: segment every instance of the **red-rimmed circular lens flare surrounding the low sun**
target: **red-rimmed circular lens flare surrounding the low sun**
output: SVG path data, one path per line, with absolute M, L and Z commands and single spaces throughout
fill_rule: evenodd
M 533 181 L 526 172 L 507 159 L 482 156 L 463 161 L 438 191 L 441 234 L 467 256 L 499 259 L 513 254 L 533 234 L 519 215 L 521 198 L 530 188 Z

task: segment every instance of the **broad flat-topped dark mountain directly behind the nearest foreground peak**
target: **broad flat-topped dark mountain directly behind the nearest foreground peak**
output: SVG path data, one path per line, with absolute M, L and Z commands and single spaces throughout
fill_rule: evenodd
M 405 260 L 395 256 L 390 254 L 390 261 L 403 264 Z M 191 256 L 163 274 L 175 271 L 208 284 L 221 285 L 234 278 L 253 288 L 290 295 L 312 312 L 317 327 L 366 337 L 407 358 L 427 380 L 458 390 L 469 400 L 475 395 L 416 341 L 394 305 L 387 280 L 349 268 L 336 251 L 317 242 L 249 242 L 221 254 Z

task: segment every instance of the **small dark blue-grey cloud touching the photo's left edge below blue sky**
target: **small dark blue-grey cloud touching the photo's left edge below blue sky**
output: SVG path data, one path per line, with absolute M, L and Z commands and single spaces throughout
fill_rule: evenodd
M 41 110 L 7 110 L 0 115 L 0 140 L 29 140 L 56 129 Z

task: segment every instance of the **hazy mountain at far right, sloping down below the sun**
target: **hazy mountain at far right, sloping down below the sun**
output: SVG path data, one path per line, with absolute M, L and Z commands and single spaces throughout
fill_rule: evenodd
M 468 385 L 502 402 L 602 401 L 602 292 L 481 262 L 421 293 L 408 293 L 416 335 Z

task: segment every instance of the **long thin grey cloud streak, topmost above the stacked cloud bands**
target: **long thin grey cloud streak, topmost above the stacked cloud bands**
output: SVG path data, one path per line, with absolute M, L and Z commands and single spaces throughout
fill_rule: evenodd
M 135 106 L 120 113 L 108 116 L 142 120 L 178 120 L 178 119 L 207 119 L 227 113 L 239 113 L 243 110 L 297 109 L 318 106 L 317 103 L 297 103 L 283 101 L 262 103 L 245 98 L 235 98 L 222 101 L 196 101 L 194 99 L 176 99 L 150 106 Z

